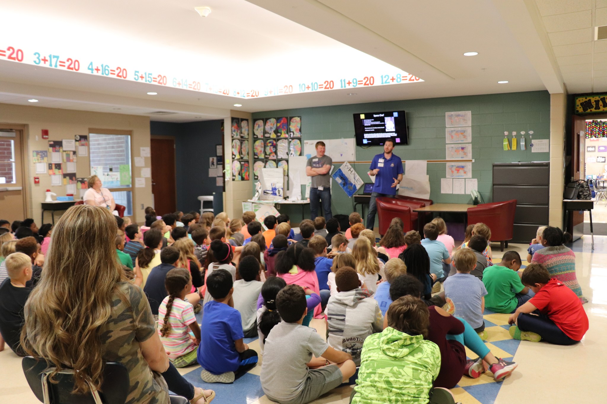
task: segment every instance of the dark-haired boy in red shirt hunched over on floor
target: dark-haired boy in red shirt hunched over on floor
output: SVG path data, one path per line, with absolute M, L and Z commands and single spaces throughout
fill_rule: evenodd
M 588 331 L 588 316 L 574 291 L 558 279 L 551 279 L 541 263 L 529 264 L 521 281 L 535 296 L 508 319 L 512 338 L 557 345 L 573 345 L 582 340 Z M 531 314 L 537 311 L 537 316 Z

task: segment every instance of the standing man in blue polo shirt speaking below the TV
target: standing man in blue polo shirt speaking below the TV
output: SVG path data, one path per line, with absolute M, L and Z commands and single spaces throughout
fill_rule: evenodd
M 373 230 L 375 225 L 375 213 L 377 205 L 375 198 L 378 196 L 393 197 L 396 195 L 396 185 L 402 181 L 401 157 L 392 154 L 394 141 L 386 139 L 384 142 L 384 153 L 376 154 L 369 167 L 369 175 L 375 176 L 375 184 L 369 200 L 369 213 L 367 214 L 367 228 Z

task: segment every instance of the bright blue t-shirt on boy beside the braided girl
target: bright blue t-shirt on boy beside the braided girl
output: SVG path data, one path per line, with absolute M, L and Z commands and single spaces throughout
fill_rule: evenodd
M 198 363 L 213 374 L 235 372 L 240 366 L 234 341 L 244 337 L 240 313 L 225 303 L 206 303 L 200 333 Z

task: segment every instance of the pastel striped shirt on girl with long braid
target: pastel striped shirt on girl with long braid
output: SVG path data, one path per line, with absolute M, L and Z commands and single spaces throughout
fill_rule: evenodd
M 192 308 L 191 303 L 175 297 L 171 307 L 171 315 L 169 316 L 171 329 L 166 337 L 161 336 L 160 329 L 164 325 L 166 303 L 168 301 L 169 296 L 164 298 L 158 308 L 158 336 L 160 336 L 160 340 L 162 341 L 162 345 L 164 345 L 164 350 L 168 354 L 169 359 L 174 360 L 197 348 L 197 345 L 190 339 L 188 333 L 188 326 L 196 321 L 196 317 L 194 316 L 194 308 Z

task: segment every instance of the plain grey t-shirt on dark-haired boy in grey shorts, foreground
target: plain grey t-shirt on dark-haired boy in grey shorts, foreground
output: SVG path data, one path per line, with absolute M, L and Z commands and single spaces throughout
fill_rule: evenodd
M 260 381 L 265 394 L 288 401 L 302 391 L 312 354 L 319 357 L 329 347 L 316 329 L 281 321 L 272 328 L 263 348 Z

